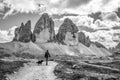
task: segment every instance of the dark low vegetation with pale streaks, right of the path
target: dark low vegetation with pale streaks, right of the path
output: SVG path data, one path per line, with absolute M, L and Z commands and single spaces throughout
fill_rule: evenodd
M 72 59 L 72 58 L 71 58 Z M 62 80 L 120 80 L 120 69 L 83 61 L 57 60 L 54 73 Z M 114 63 L 111 63 L 114 65 Z M 118 64 L 119 65 L 119 64 Z M 120 66 L 120 65 L 119 65 Z

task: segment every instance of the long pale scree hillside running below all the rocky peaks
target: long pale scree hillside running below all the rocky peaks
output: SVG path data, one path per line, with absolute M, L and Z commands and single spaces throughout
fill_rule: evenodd
M 9 42 L 0 44 L 1 56 L 2 54 L 9 55 L 19 55 L 27 54 L 33 56 L 41 56 L 49 50 L 51 55 L 69 55 L 69 56 L 109 56 L 106 49 L 97 48 L 95 45 L 86 47 L 85 45 L 79 43 L 76 46 L 67 46 L 58 43 L 22 43 L 22 42 Z M 27 56 L 26 55 L 26 56 Z

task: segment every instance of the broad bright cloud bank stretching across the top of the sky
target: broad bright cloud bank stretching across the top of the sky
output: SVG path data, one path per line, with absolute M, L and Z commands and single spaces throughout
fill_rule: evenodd
M 0 11 L 4 7 L 9 8 L 8 11 L 5 11 L 4 18 L 19 12 L 38 14 L 42 12 L 64 14 L 67 12 L 88 15 L 116 11 L 120 7 L 120 0 L 3 0 L 0 2 Z

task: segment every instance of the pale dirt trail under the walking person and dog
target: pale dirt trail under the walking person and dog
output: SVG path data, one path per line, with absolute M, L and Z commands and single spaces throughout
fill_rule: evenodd
M 56 65 L 57 63 L 53 61 L 50 61 L 48 66 L 45 65 L 45 62 L 43 62 L 42 66 L 26 65 L 17 73 L 8 75 L 8 78 L 10 80 L 55 80 L 56 76 L 53 71 Z

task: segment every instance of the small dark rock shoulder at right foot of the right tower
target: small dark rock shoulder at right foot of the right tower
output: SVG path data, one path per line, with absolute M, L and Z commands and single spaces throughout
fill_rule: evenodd
M 83 32 L 78 33 L 78 41 L 87 47 L 89 47 L 91 44 L 89 37 L 86 37 Z

